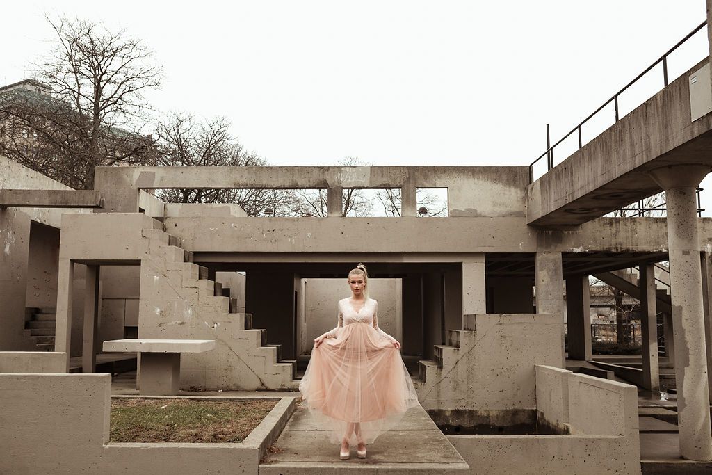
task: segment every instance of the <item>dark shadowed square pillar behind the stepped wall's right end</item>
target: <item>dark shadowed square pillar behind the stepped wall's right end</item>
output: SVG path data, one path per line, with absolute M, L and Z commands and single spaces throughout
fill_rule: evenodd
M 592 359 L 590 293 L 588 276 L 566 279 L 566 323 L 572 360 Z

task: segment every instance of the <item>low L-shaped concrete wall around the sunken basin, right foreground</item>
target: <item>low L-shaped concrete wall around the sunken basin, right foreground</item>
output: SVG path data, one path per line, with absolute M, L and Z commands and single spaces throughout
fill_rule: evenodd
M 540 420 L 571 435 L 448 436 L 471 474 L 640 474 L 637 389 L 536 367 Z

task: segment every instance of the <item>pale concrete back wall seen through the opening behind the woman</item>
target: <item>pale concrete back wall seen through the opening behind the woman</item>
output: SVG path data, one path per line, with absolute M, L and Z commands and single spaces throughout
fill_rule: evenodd
M 348 297 L 346 278 L 305 278 L 306 315 L 301 346 L 311 350 L 314 338 L 337 325 L 337 302 Z M 378 301 L 378 326 L 398 341 L 403 340 L 402 282 L 399 278 L 370 278 L 370 297 Z

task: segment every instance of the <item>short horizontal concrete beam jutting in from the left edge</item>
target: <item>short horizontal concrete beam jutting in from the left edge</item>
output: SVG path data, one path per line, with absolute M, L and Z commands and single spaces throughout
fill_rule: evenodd
M 104 198 L 93 189 L 0 189 L 0 207 L 103 208 Z

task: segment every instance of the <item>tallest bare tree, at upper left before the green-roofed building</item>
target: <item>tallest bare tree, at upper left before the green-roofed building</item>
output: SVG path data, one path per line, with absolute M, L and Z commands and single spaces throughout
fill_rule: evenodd
M 162 79 L 150 51 L 124 30 L 47 21 L 46 61 L 33 80 L 0 91 L 0 153 L 78 189 L 93 187 L 94 167 L 150 163 L 144 93 Z

